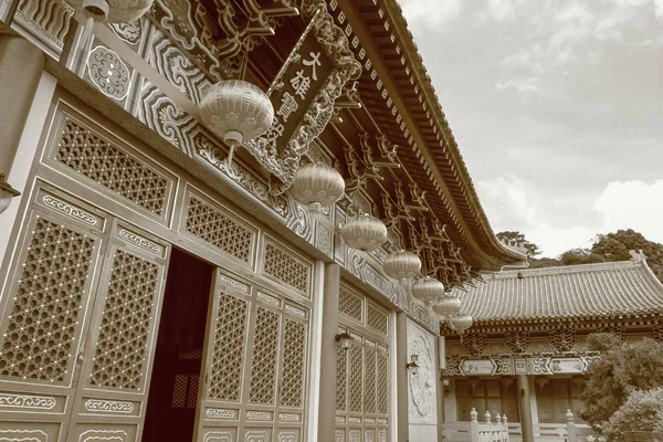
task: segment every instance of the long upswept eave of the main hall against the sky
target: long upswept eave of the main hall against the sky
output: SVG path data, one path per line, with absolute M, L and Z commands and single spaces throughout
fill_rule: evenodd
M 338 4 L 368 52 L 370 70 L 377 73 L 369 80 L 377 80 L 380 85 L 366 90 L 373 95 L 376 106 L 393 101 L 409 128 L 406 144 L 419 161 L 425 162 L 421 179 L 432 176 L 438 182 L 440 207 L 446 208 L 453 221 L 449 225 L 454 231 L 449 234 L 461 246 L 463 259 L 473 267 L 487 271 L 524 261 L 524 254 L 505 248 L 495 238 L 397 1 L 340 0 Z M 382 85 L 389 98 L 381 96 Z M 393 115 L 385 115 L 380 123 L 392 126 L 392 133 L 403 133 L 403 125 Z

